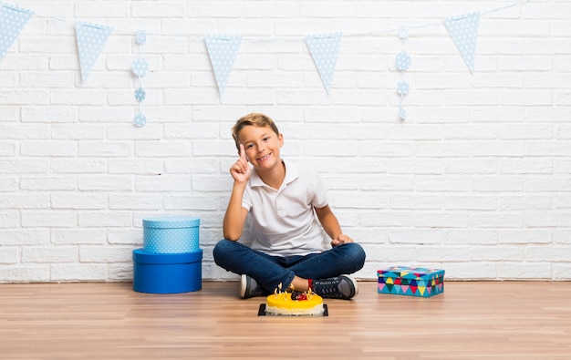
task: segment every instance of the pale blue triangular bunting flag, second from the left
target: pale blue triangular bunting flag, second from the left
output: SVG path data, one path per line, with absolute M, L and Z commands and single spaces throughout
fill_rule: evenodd
M 91 67 L 95 65 L 111 31 L 113 31 L 112 26 L 102 26 L 81 21 L 76 23 L 82 83 L 85 83 L 85 80 L 88 78 Z

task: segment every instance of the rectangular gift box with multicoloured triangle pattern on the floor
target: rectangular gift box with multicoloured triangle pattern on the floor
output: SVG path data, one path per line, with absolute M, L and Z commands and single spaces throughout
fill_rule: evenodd
M 444 292 L 444 270 L 394 266 L 377 271 L 379 293 L 431 297 Z

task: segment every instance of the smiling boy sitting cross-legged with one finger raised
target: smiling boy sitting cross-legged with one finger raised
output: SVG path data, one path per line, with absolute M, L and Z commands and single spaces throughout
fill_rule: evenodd
M 284 136 L 263 114 L 238 119 L 232 135 L 239 158 L 230 168 L 234 186 L 223 220 L 224 240 L 213 256 L 227 271 L 242 274 L 240 297 L 273 293 L 279 283 L 325 298 L 357 295 L 357 282 L 346 274 L 363 267 L 365 252 L 341 231 L 317 172 L 280 157 Z M 251 248 L 238 242 L 248 212 Z

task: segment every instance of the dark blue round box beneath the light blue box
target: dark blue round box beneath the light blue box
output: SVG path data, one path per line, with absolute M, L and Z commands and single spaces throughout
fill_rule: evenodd
M 140 293 L 189 293 L 202 289 L 202 250 L 151 253 L 133 250 L 133 290 Z

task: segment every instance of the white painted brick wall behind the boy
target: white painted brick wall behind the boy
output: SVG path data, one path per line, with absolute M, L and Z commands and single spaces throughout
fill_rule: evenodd
M 158 214 L 200 217 L 204 279 L 235 279 L 212 248 L 230 128 L 250 111 L 327 180 L 368 253 L 359 278 L 418 264 L 449 279 L 571 280 L 571 3 L 485 13 L 510 4 L 19 0 L 36 15 L 0 62 L 0 283 L 129 281 L 141 220 Z M 472 11 L 484 12 L 473 75 L 441 25 Z M 77 20 L 115 27 L 84 85 Z M 400 121 L 392 30 L 417 25 L 429 26 L 410 29 Z M 303 38 L 337 31 L 327 95 Z M 202 36 L 224 33 L 244 41 L 221 99 Z

